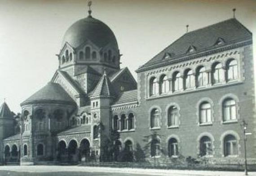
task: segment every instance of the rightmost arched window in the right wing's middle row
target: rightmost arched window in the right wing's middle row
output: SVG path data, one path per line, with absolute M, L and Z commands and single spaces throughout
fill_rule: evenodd
M 236 117 L 236 101 L 227 98 L 223 101 L 223 121 L 235 120 Z

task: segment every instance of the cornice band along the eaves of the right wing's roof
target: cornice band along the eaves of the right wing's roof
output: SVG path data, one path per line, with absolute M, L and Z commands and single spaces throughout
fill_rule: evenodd
M 160 68 L 160 67 L 163 67 L 163 66 L 170 66 L 172 64 L 176 64 L 176 63 L 179 63 L 179 62 L 185 62 L 185 61 L 188 61 L 188 60 L 191 60 L 191 59 L 194 59 L 194 58 L 204 57 L 204 56 L 208 56 L 208 55 L 211 55 L 211 54 L 224 52 L 226 50 L 243 47 L 243 46 L 246 46 L 246 45 L 249 45 L 249 44 L 252 44 L 252 39 L 245 40 L 243 42 L 239 42 L 239 43 L 235 43 L 235 44 L 226 45 L 226 46 L 223 46 L 221 48 L 214 48 L 214 49 L 211 49 L 211 50 L 203 51 L 201 53 L 195 53 L 195 54 L 190 55 L 190 56 L 175 57 L 172 60 L 166 60 L 165 62 L 163 60 L 160 60 L 158 62 L 161 62 L 161 63 L 155 63 L 151 66 L 147 66 L 147 67 L 144 67 L 144 68 L 138 68 L 136 70 L 136 72 L 141 73 L 143 71 L 153 70 L 153 69 L 157 69 L 157 68 Z

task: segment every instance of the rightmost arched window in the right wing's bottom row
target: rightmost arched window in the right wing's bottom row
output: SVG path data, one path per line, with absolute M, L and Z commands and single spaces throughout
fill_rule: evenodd
M 229 134 L 224 138 L 224 156 L 232 156 L 238 154 L 237 139 Z

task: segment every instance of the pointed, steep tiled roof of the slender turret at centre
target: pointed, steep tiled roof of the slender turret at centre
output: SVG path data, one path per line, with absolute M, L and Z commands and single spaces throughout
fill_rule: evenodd
M 109 96 L 109 97 L 115 96 L 115 91 L 112 88 L 112 85 L 110 83 L 108 76 L 106 75 L 106 71 L 102 75 L 101 79 L 99 80 L 92 94 L 92 97 L 98 97 L 98 96 Z

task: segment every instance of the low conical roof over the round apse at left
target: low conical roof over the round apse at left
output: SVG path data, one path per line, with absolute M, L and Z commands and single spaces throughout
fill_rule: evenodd
M 21 103 L 21 106 L 33 103 L 62 103 L 75 105 L 75 101 L 57 83 L 48 83 Z

